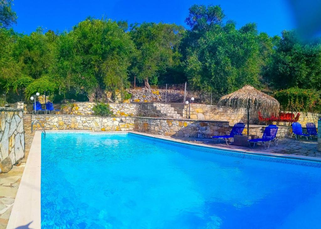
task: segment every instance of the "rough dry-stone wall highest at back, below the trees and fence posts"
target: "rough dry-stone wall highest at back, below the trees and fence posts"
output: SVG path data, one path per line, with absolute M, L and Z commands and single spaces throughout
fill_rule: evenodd
M 167 90 L 166 89 L 148 89 L 148 88 L 137 88 L 127 89 L 127 92 L 132 94 L 131 102 L 178 102 L 182 103 L 184 100 L 184 91 L 179 90 Z

